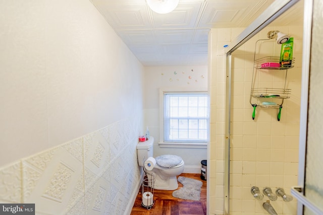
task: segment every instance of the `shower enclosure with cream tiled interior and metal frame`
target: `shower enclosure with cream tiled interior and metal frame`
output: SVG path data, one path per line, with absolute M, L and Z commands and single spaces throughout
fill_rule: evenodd
M 297 201 L 291 198 L 290 189 L 298 184 L 303 23 L 295 19 L 286 26 L 279 20 L 285 12 L 290 13 L 292 7 L 302 8 L 303 2 L 275 1 L 226 52 L 224 214 L 268 214 L 268 211 L 295 214 L 297 211 Z M 280 121 L 275 108 L 255 110 L 253 120 L 254 109 L 249 103 L 254 69 L 252 50 L 256 41 L 266 39 L 267 33 L 273 30 L 294 37 L 295 66 L 288 75 L 261 70 L 257 81 L 276 88 L 287 79 L 290 98 L 284 101 Z M 277 43 L 271 46 L 280 47 Z M 266 48 L 264 54 L 276 55 L 277 47 L 273 47 Z M 265 196 L 254 198 L 250 193 L 252 187 L 258 187 Z M 268 188 L 276 194 L 284 190 L 285 198 L 281 193 L 278 198 L 268 198 Z

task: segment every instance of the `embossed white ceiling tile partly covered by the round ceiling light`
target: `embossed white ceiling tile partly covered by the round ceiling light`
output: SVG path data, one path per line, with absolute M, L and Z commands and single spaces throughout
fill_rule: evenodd
M 156 29 L 193 28 L 198 19 L 202 2 L 182 3 L 169 14 L 152 13 L 152 21 Z

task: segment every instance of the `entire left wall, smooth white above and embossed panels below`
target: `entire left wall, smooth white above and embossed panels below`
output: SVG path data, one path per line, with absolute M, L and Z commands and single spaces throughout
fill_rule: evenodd
M 1 1 L 0 14 L 0 201 L 131 209 L 141 63 L 88 0 Z

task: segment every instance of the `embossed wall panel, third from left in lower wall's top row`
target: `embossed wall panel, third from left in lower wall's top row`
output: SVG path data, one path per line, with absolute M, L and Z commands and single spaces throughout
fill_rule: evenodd
M 110 147 L 100 131 L 84 136 L 84 167 L 100 177 L 110 164 Z

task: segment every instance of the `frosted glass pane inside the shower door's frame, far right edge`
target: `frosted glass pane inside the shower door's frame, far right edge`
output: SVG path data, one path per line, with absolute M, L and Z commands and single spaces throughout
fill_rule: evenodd
M 307 123 L 307 149 L 305 168 L 305 196 L 323 211 L 323 73 L 322 73 L 322 26 L 323 2 L 313 1 L 312 45 L 309 75 L 309 103 Z M 315 214 L 307 207 L 304 214 Z

